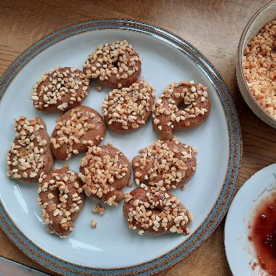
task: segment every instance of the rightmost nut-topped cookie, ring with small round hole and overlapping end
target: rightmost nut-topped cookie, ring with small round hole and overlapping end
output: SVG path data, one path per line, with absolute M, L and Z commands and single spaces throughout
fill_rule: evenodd
M 185 108 L 179 110 L 178 106 Z M 172 130 L 195 128 L 202 124 L 210 113 L 211 103 L 207 88 L 193 81 L 181 81 L 166 86 L 157 99 L 152 126 L 159 139 L 172 138 Z

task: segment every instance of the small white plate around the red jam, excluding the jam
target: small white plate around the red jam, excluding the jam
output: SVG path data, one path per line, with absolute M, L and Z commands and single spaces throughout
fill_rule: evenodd
M 271 193 L 275 193 L 275 172 L 276 164 L 273 164 L 250 177 L 235 196 L 228 211 L 224 243 L 228 263 L 234 276 L 266 275 L 259 266 L 253 270 L 253 264 L 257 259 L 253 244 L 248 239 L 250 231 L 248 226 L 253 221 L 258 204 Z

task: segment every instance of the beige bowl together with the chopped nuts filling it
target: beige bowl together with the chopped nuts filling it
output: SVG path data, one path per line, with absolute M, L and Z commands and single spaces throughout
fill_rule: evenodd
M 262 121 L 276 128 L 276 1 L 248 21 L 237 50 L 236 75 L 244 100 Z

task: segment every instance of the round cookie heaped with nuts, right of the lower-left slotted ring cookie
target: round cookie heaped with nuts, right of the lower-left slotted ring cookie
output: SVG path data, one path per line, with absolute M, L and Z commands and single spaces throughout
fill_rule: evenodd
M 115 206 L 124 198 L 121 189 L 128 185 L 130 162 L 121 150 L 110 145 L 88 148 L 81 159 L 79 172 L 88 197 Z

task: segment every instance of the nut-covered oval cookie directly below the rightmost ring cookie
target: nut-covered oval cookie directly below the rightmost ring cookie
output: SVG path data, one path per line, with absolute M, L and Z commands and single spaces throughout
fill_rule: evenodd
M 197 150 L 175 138 L 157 140 L 139 152 L 132 159 L 133 179 L 138 185 L 172 189 L 184 186 L 195 175 Z

